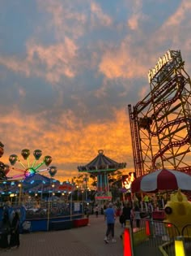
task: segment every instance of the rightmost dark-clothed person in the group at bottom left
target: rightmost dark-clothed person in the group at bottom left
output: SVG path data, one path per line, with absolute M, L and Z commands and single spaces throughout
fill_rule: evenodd
M 19 213 L 16 211 L 13 214 L 13 220 L 11 223 L 11 239 L 10 239 L 10 248 L 15 247 L 19 248 Z

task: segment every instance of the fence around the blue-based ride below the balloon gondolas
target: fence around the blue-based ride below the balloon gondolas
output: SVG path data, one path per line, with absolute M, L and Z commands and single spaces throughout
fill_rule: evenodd
M 19 211 L 20 223 L 24 225 L 24 229 L 28 229 L 31 223 L 31 231 L 46 231 L 51 228 L 49 223 L 54 221 L 65 221 L 73 223 L 74 219 L 82 219 L 84 217 L 84 202 L 74 201 L 42 201 L 27 202 L 23 206 L 0 206 L 0 221 L 5 210 L 8 211 L 10 219 L 15 210 Z M 26 226 L 26 227 L 25 227 Z

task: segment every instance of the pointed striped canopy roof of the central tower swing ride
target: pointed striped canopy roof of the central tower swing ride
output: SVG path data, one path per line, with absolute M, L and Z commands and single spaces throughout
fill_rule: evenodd
M 126 163 L 117 163 L 116 161 L 104 155 L 104 150 L 99 150 L 98 155 L 85 166 L 79 166 L 79 171 L 100 172 L 100 171 L 117 171 L 126 167 Z

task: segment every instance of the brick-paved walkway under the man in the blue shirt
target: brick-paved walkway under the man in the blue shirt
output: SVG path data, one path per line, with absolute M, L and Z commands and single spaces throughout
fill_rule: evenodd
M 104 243 L 106 223 L 104 215 L 90 216 L 90 226 L 72 228 L 63 231 L 32 232 L 20 235 L 19 249 L 5 251 L 1 256 L 122 256 L 123 245 L 120 239 L 122 231 L 119 219 L 115 233 L 117 243 Z

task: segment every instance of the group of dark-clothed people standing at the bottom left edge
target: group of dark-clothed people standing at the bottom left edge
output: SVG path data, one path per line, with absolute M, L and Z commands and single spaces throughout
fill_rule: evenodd
M 1 238 L 0 247 L 11 249 L 19 248 L 19 212 L 12 212 L 10 220 L 8 210 L 5 210 L 2 216 L 2 223 L 0 227 Z

